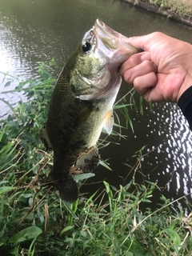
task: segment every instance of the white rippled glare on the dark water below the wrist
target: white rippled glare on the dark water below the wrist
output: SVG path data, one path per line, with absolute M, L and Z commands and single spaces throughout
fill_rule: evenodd
M 192 134 L 186 118 L 181 114 L 176 104 L 154 104 L 153 114 L 157 116 L 157 122 L 150 122 L 150 134 L 156 134 L 158 146 L 156 152 L 160 157 L 155 157 L 158 166 L 158 175 L 170 175 L 170 181 L 166 183 L 168 191 L 171 191 L 176 183 L 176 194 L 189 194 L 191 191 L 191 155 Z M 147 137 L 151 137 L 147 134 Z M 154 144 L 154 143 L 153 143 Z M 150 146 L 147 151 L 155 150 Z

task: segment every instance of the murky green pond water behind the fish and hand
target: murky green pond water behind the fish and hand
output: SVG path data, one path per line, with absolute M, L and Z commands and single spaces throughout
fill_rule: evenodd
M 48 63 L 52 58 L 64 65 L 96 18 L 127 37 L 158 30 L 192 42 L 190 27 L 118 0 L 0 0 L 0 6 L 0 71 L 22 74 L 23 79 L 37 78 L 40 63 Z M 0 74 L 0 82 L 2 77 Z M 118 98 L 130 89 L 131 86 L 122 83 Z M 3 84 L 0 90 L 6 90 Z M 20 96 L 4 94 L 1 98 L 13 104 Z M 2 115 L 6 106 L 0 104 Z M 152 201 L 158 202 L 160 194 L 179 198 L 192 192 L 192 134 L 178 106 L 153 104 L 151 111 L 149 104 L 143 102 L 143 115 L 134 109 L 129 113 L 134 133 L 131 129 L 123 130 L 126 140 L 116 138 L 115 143 L 100 151 L 102 159 L 110 158 L 108 162 L 113 171 L 99 166 L 96 176 L 88 182 L 106 179 L 118 187 L 136 162 L 132 156 L 146 146 L 142 174 L 136 178 L 138 183 L 143 177 L 158 182 L 161 190 L 155 190 Z M 130 177 L 124 182 L 129 182 Z M 82 192 L 92 193 L 100 186 L 102 183 L 84 186 Z M 188 198 L 191 201 L 191 197 Z

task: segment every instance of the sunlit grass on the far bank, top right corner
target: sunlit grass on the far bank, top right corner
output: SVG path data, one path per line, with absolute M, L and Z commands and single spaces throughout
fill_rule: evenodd
M 122 0 L 192 26 L 192 0 Z

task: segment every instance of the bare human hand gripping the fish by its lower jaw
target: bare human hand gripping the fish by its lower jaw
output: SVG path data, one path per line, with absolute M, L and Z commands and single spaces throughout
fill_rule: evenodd
M 192 45 L 161 32 L 129 38 L 142 53 L 130 56 L 119 73 L 148 102 L 178 102 L 192 86 Z

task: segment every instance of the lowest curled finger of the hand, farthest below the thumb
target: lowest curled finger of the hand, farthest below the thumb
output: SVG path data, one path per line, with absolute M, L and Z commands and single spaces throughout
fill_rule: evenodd
M 157 82 L 157 75 L 154 72 L 150 72 L 134 79 L 134 89 L 138 94 L 142 95 L 147 102 L 151 102 L 155 99 L 150 97 L 150 92 Z

